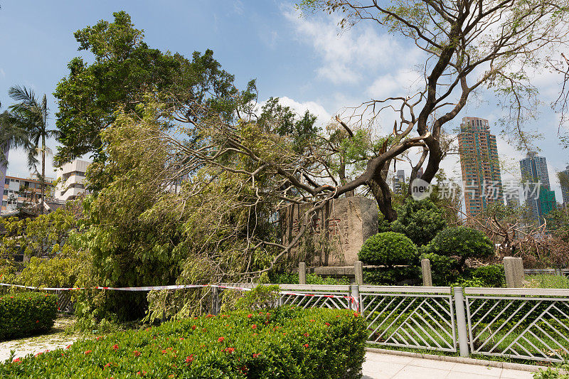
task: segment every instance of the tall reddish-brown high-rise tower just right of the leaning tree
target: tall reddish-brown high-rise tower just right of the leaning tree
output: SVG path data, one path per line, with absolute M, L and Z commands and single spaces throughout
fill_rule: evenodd
M 464 205 L 476 216 L 494 203 L 504 204 L 496 136 L 487 119 L 463 117 L 458 134 Z

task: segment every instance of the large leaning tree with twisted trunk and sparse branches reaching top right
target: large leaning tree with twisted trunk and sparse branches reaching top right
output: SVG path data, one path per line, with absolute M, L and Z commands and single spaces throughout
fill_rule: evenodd
M 339 13 L 341 27 L 371 22 L 412 41 L 424 58 L 424 82 L 415 94 L 364 102 L 324 131 L 309 114 L 305 122 L 295 120 L 271 99 L 260 115 L 242 110 L 229 121 L 202 111 L 208 117 L 186 128 L 199 142 L 166 133 L 173 156 L 184 157 L 182 169 L 213 170 L 197 187 L 216 181 L 216 171 L 232 172 L 244 176 L 252 196 L 275 204 L 275 210 L 306 205 L 292 240 L 250 244 L 278 250 L 265 270 L 298 244 L 314 213 L 334 198 L 371 194 L 385 219 L 395 220 L 387 178 L 391 164 L 411 157 L 410 181 L 422 166 L 422 179 L 432 181 L 447 154 L 445 124 L 477 91 L 496 92 L 506 115 L 504 134 L 519 146 L 531 145 L 532 135 L 523 128 L 538 105 L 531 75 L 567 48 L 569 38 L 569 0 L 306 0 L 298 6 L 307 14 Z M 393 130 L 389 126 L 390 134 L 374 137 L 385 112 L 396 117 Z

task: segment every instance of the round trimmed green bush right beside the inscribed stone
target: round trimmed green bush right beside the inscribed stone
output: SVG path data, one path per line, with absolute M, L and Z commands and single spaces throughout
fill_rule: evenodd
M 417 246 L 406 235 L 378 233 L 363 242 L 358 258 L 368 265 L 410 265 L 418 257 Z

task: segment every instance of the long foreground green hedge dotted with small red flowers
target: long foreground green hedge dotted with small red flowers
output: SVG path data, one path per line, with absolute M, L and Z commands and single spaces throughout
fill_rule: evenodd
M 236 311 L 78 341 L 0 378 L 360 378 L 365 329 L 346 310 Z

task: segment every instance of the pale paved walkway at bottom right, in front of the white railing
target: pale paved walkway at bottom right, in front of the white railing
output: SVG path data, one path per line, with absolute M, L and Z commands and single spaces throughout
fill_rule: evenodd
M 533 379 L 529 371 L 366 353 L 362 379 Z

